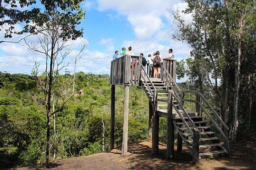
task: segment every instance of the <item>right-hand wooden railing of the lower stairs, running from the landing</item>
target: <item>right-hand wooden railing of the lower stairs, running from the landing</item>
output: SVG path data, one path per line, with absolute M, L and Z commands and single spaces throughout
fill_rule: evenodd
M 224 141 L 224 148 L 225 150 L 229 153 L 229 128 L 228 126 L 225 124 L 225 122 L 220 118 L 220 116 L 217 114 L 217 112 L 211 107 L 210 103 L 203 97 L 203 95 L 199 92 L 199 91 L 182 91 L 183 93 L 183 97 L 185 96 L 185 93 L 195 93 L 196 94 L 196 100 L 188 100 L 188 99 L 184 99 L 182 98 L 182 105 L 184 104 L 184 101 L 186 102 L 193 102 L 195 103 L 195 110 L 196 112 L 200 113 L 200 108 L 202 109 L 202 111 L 205 113 L 205 115 L 210 119 L 210 121 L 212 122 L 212 124 L 214 125 L 214 127 L 219 131 L 219 133 L 221 134 L 221 136 L 223 137 L 223 141 Z M 203 107 L 203 104 L 200 102 L 200 99 L 202 99 L 202 101 L 209 107 L 209 109 L 212 111 L 212 113 L 214 114 L 214 117 L 218 119 L 218 121 L 220 122 L 220 124 L 223 126 L 224 128 L 224 132 L 221 130 L 221 128 L 218 126 L 218 124 L 216 123 L 216 121 L 214 121 L 214 119 L 210 116 L 210 114 L 208 113 L 208 111 Z M 202 116 L 202 115 L 201 115 Z

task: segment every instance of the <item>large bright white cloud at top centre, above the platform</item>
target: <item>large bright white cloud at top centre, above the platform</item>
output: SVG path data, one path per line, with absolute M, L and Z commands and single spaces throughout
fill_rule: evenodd
M 127 16 L 136 37 L 139 40 L 149 39 L 164 27 L 161 17 L 166 16 L 166 7 L 171 6 L 170 0 L 98 0 L 98 10 L 114 10 L 119 15 Z

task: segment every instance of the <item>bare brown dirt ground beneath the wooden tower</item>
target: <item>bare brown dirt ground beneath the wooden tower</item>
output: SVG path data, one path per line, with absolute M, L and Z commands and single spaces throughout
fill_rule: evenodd
M 56 170 L 256 170 L 256 136 L 230 144 L 229 158 L 201 161 L 192 164 L 192 157 L 185 147 L 182 153 L 175 152 L 174 159 L 165 159 L 165 144 L 159 144 L 159 155 L 151 154 L 150 142 L 129 143 L 128 154 L 121 155 L 120 147 L 87 157 L 58 160 L 51 169 Z M 176 146 L 175 146 L 176 149 Z M 55 166 L 56 164 L 56 166 Z M 41 168 L 39 168 L 41 169 Z M 43 168 L 48 170 L 48 168 Z M 38 170 L 36 166 L 12 168 L 11 170 Z

